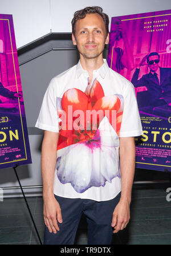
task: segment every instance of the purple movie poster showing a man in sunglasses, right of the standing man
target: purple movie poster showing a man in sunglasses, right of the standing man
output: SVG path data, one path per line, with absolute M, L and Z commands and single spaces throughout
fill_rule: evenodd
M 171 171 L 171 10 L 113 17 L 108 65 L 135 87 L 136 167 Z

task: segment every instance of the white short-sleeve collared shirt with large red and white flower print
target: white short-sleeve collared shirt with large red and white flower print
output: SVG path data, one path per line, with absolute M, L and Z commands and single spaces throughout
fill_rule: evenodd
M 55 76 L 35 126 L 59 132 L 54 194 L 95 201 L 121 191 L 119 137 L 143 134 L 134 87 L 106 60 L 91 84 L 80 62 Z

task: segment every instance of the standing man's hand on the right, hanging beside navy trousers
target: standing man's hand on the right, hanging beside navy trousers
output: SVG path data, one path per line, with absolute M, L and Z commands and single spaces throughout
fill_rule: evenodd
M 119 230 L 123 230 L 130 220 L 130 208 L 128 201 L 119 201 L 113 211 L 112 227 L 114 227 L 113 233 L 117 233 Z

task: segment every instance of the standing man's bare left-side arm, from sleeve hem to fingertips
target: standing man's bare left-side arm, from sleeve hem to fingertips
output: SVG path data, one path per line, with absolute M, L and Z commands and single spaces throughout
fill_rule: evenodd
M 51 233 L 56 233 L 56 230 L 59 231 L 58 222 L 62 223 L 60 205 L 54 196 L 54 173 L 58 137 L 59 133 L 44 131 L 42 143 L 43 216 L 44 223 Z

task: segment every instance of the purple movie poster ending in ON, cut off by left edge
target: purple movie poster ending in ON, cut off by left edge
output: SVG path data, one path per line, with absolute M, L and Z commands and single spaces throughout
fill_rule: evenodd
M 30 163 L 13 17 L 0 14 L 0 168 Z

